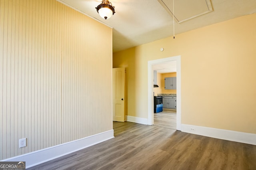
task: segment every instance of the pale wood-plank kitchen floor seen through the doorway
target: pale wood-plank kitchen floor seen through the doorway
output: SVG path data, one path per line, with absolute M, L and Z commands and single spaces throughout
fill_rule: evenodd
M 164 109 L 162 112 L 154 113 L 154 126 L 176 130 L 176 111 Z

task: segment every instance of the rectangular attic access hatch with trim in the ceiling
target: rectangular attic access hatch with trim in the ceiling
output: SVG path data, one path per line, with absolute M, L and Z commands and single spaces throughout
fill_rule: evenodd
M 158 0 L 173 17 L 173 1 Z M 192 18 L 212 12 L 210 0 L 174 0 L 174 20 L 181 23 Z

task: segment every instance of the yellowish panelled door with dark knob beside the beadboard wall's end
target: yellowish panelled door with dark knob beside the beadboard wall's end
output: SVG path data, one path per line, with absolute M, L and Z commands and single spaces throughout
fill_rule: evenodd
M 124 122 L 124 68 L 112 70 L 113 121 Z

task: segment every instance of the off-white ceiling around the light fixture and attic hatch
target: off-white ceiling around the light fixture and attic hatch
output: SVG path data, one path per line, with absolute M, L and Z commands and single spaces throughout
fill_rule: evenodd
M 173 36 L 173 19 L 158 0 L 110 0 L 116 13 L 104 20 L 95 7 L 101 0 L 58 0 L 113 28 L 113 52 Z M 172 9 L 173 0 L 162 0 Z M 174 23 L 175 34 L 256 12 L 256 0 L 174 0 L 174 16 L 205 10 L 198 4 L 209 1 L 212 12 Z M 193 3 L 191 3 L 193 2 Z M 181 12 L 182 11 L 182 12 Z M 195 16 L 196 14 L 194 14 Z

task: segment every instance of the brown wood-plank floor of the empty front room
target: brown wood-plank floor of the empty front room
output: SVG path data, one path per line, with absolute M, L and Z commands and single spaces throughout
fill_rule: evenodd
M 110 140 L 30 170 L 256 170 L 256 146 L 114 122 Z

